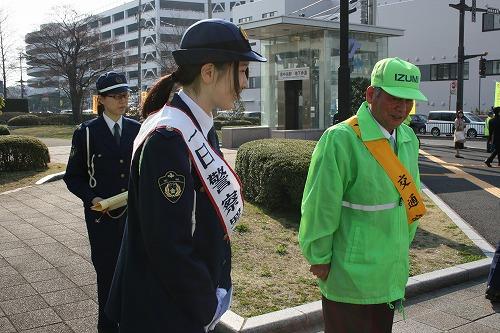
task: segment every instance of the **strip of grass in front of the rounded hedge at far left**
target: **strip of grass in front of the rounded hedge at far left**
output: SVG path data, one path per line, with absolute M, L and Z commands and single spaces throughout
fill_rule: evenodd
M 49 163 L 48 168 L 32 171 L 1 172 L 0 193 L 14 190 L 16 188 L 34 185 L 41 178 L 66 170 L 66 165 L 61 163 Z

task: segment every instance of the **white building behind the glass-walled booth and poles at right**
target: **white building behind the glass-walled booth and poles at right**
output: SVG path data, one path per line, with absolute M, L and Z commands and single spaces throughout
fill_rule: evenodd
M 376 4 L 375 10 L 371 7 L 373 3 Z M 422 89 L 429 102 L 417 103 L 418 113 L 455 108 L 456 95 L 450 94 L 450 86 L 457 78 L 458 11 L 450 8 L 448 3 L 436 0 L 358 0 L 351 5 L 351 8 L 357 7 L 357 11 L 349 16 L 352 24 L 368 22 L 404 30 L 403 36 L 389 38 L 388 56 L 403 58 L 420 67 Z M 472 0 L 466 0 L 466 3 L 471 5 Z M 363 7 L 363 4 L 368 6 Z M 500 7 L 497 1 L 477 0 L 478 8 L 486 8 L 488 4 Z M 299 10 L 301 8 L 304 9 Z M 338 22 L 339 1 L 260 0 L 235 8 L 233 21 L 242 24 L 283 15 Z M 496 31 L 482 31 L 482 13 L 478 12 L 476 19 L 475 23 L 471 22 L 471 13 L 466 13 L 465 54 L 488 52 L 487 72 L 486 78 L 480 79 L 479 58 L 466 60 L 464 111 L 480 109 L 485 112 L 493 105 L 495 82 L 500 81 L 500 15 L 488 14 L 487 22 L 484 22 L 486 26 L 494 26 Z M 273 33 L 272 29 L 269 33 Z M 260 49 L 260 44 L 257 46 Z M 258 82 L 258 88 L 260 71 L 255 66 L 260 65 L 254 64 L 251 76 L 255 75 L 252 80 Z M 251 89 L 246 96 L 258 100 L 259 94 L 259 89 Z

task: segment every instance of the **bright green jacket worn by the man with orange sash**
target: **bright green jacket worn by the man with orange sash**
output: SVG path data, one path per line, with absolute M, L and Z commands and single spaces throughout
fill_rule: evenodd
M 363 141 L 384 138 L 366 102 L 357 115 Z M 417 138 L 401 125 L 396 139 L 420 189 Z M 311 158 L 299 230 L 308 262 L 331 264 L 321 293 L 352 304 L 403 298 L 417 224 L 408 225 L 398 191 L 354 130 L 346 123 L 327 129 Z

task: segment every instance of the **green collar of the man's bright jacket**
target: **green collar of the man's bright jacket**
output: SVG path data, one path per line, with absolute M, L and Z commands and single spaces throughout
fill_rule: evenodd
M 383 138 L 390 138 L 391 134 L 389 134 L 389 132 L 384 127 L 382 127 L 382 125 L 380 125 L 373 117 L 368 102 L 365 101 L 363 102 L 363 104 L 361 104 L 358 109 L 357 116 L 359 129 L 361 130 L 361 138 L 363 139 L 363 141 L 373 141 Z M 396 139 L 395 135 L 397 132 L 398 142 L 411 141 L 411 138 L 408 136 L 406 131 L 398 130 L 401 126 L 402 125 L 397 127 L 392 133 L 394 135 L 394 139 Z

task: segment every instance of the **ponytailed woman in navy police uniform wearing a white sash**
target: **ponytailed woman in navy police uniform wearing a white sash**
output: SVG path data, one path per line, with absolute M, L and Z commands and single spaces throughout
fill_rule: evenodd
M 219 150 L 212 110 L 232 109 L 249 61 L 265 58 L 244 31 L 219 19 L 190 26 L 173 56 L 178 68 L 150 90 L 134 142 L 128 220 L 107 307 L 122 333 L 211 331 L 231 303 L 230 237 L 243 198 Z M 170 100 L 176 85 L 182 89 Z

